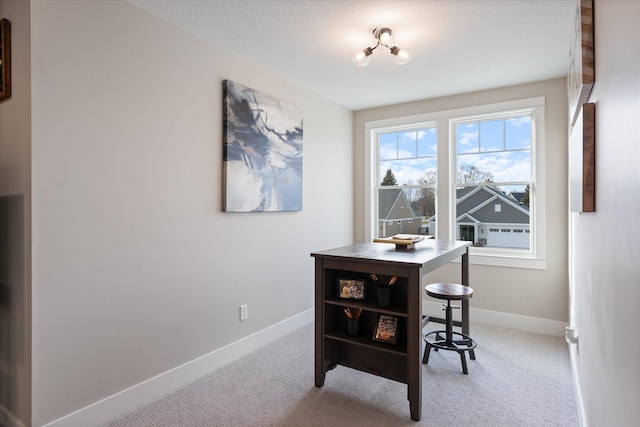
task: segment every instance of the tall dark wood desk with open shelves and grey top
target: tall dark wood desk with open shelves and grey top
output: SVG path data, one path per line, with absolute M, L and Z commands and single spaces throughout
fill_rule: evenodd
M 462 257 L 462 284 L 469 284 L 469 242 L 424 240 L 412 251 L 396 251 L 384 243 L 362 243 L 314 252 L 315 258 L 315 385 L 322 387 L 326 373 L 340 364 L 407 384 L 411 419 L 422 417 L 422 276 Z M 380 307 L 377 277 L 396 276 L 393 304 Z M 338 278 L 365 280 L 365 300 L 338 297 Z M 464 303 L 464 302 L 463 302 Z M 361 336 L 346 333 L 347 307 L 361 308 Z M 463 310 L 467 312 L 467 310 Z M 397 342 L 372 340 L 381 314 L 398 320 Z M 463 319 L 465 322 L 465 319 Z M 468 331 L 468 318 L 466 319 Z

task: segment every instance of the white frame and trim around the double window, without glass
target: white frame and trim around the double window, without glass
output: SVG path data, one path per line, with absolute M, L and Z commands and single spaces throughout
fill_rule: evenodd
M 379 163 L 379 144 L 377 135 L 389 129 L 403 127 L 423 127 L 436 124 L 438 149 L 438 183 L 436 187 L 436 238 L 455 239 L 456 236 L 456 145 L 453 140 L 453 126 L 456 120 L 472 116 L 530 111 L 532 114 L 532 181 L 529 189 L 533 203 L 531 229 L 531 248 L 529 251 L 511 249 L 470 248 L 472 264 L 494 265 L 514 268 L 546 269 L 546 181 L 545 181 L 545 97 L 539 96 L 514 101 L 459 108 L 433 113 L 375 120 L 365 123 L 365 218 L 364 235 L 371 241 L 377 232 L 377 168 Z M 534 143 L 535 141 L 535 143 Z M 535 146 L 534 146 L 535 144 Z M 376 163 L 378 162 L 378 163 Z M 447 173 L 441 173 L 446 171 Z M 454 212 L 452 215 L 451 212 Z M 446 220 L 443 220 L 446 219 Z M 485 250 L 482 250 L 485 249 Z

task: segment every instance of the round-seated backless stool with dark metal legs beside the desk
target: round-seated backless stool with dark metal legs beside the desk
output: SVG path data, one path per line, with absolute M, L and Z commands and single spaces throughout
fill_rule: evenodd
M 476 341 L 467 334 L 453 331 L 454 322 L 452 310 L 459 307 L 452 307 L 451 301 L 468 300 L 473 296 L 473 289 L 469 286 L 458 285 L 456 283 L 432 283 L 425 286 L 425 291 L 427 292 L 427 295 L 432 298 L 447 300 L 447 304 L 443 304 L 446 319 L 446 330 L 429 332 L 424 336 L 426 347 L 424 349 L 422 363 L 429 363 L 431 348 L 434 348 L 435 351 L 438 351 L 439 349 L 456 351 L 460 354 L 462 372 L 464 374 L 468 374 L 467 358 L 464 353 L 468 351 L 471 360 L 475 360 L 476 355 L 473 349 L 476 348 Z

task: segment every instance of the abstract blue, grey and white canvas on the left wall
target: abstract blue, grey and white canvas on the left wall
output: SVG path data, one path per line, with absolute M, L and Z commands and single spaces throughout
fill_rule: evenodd
M 231 80 L 223 89 L 224 211 L 302 210 L 302 111 Z

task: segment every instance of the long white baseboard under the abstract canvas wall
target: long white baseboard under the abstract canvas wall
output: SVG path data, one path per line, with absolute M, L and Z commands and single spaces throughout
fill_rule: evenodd
M 198 357 L 183 365 L 122 390 L 42 427 L 87 427 L 103 425 L 136 408 L 171 393 L 198 378 L 269 344 L 314 321 L 309 309 L 248 337 Z

